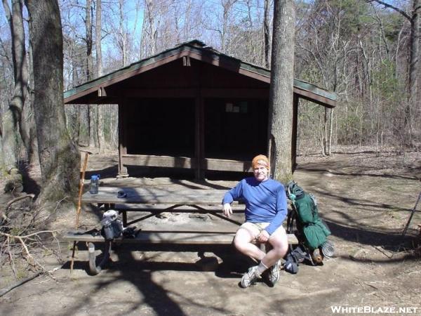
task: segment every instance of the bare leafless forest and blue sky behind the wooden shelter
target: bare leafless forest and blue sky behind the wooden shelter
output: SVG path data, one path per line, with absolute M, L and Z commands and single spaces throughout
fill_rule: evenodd
M 1 112 L 6 113 L 15 79 L 11 25 L 5 14 L 11 2 L 3 3 L 0 103 Z M 295 4 L 295 78 L 338 94 L 335 110 L 301 101 L 299 152 L 330 154 L 331 145 L 370 145 L 376 151 L 391 146 L 399 152 L 419 149 L 419 66 L 410 82 L 411 41 L 417 47 L 415 60 L 420 51 L 419 1 Z M 59 6 L 65 91 L 192 39 L 255 65 L 270 65 L 271 0 L 60 0 Z M 27 33 L 25 6 L 22 17 Z M 415 34 L 413 25 L 417 25 Z M 24 38 L 27 42 L 28 37 Z M 26 54 L 31 53 L 27 45 Z M 411 84 L 415 84 L 415 96 L 410 96 Z M 29 91 L 31 85 L 29 79 Z M 116 105 L 66 105 L 65 112 L 76 144 L 99 147 L 101 152 L 116 149 Z M 24 107 L 23 120 L 29 122 L 32 116 L 31 107 Z M 22 124 L 21 129 L 30 135 L 30 124 Z M 18 157 L 31 162 L 25 140 L 18 141 Z

